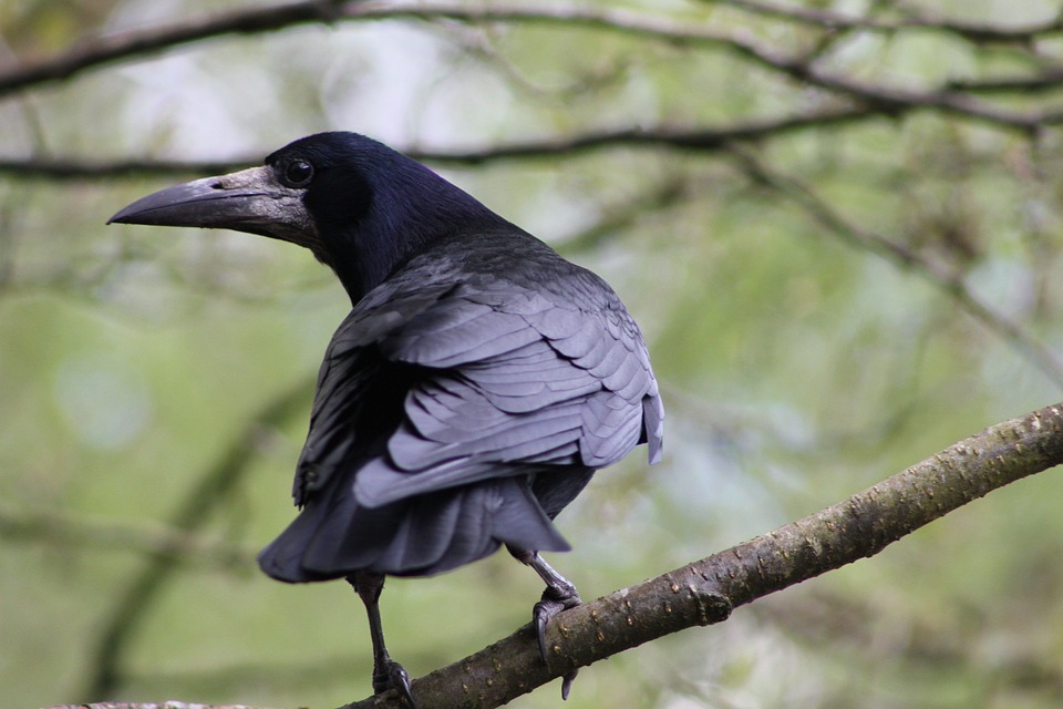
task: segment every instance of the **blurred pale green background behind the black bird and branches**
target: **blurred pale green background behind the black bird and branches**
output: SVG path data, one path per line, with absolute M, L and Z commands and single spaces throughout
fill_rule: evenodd
M 266 7 L 0 0 L 0 78 L 102 37 Z M 606 277 L 650 343 L 667 454 L 648 469 L 640 449 L 559 517 L 576 549 L 550 561 L 585 598 L 1063 399 L 1063 94 L 1051 80 L 949 84 L 1057 75 L 1059 32 L 1038 29 L 1057 3 L 783 6 L 805 21 L 743 0 L 580 7 L 636 14 L 341 18 L 0 88 L 0 706 L 370 693 L 350 588 L 285 586 L 254 564 L 295 513 L 345 295 L 288 245 L 104 227 L 198 171 L 79 177 L 55 161 L 259 161 L 355 130 L 434 153 Z M 669 22 L 716 39 L 662 34 Z M 761 140 L 677 138 L 743 127 Z M 649 137 L 561 150 L 632 130 Z M 515 144 L 558 150 L 491 158 Z M 445 160 L 474 150 L 488 160 Z M 995 492 L 723 625 L 585 669 L 566 706 L 1061 706 L 1061 503 L 1051 472 Z M 391 580 L 389 646 L 423 675 L 526 623 L 539 592 L 505 554 Z M 513 706 L 559 701 L 554 684 Z

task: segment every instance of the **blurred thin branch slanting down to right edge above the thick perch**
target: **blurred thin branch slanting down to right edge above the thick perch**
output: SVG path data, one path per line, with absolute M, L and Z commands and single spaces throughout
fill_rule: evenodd
M 946 264 L 939 264 L 923 257 L 900 242 L 854 224 L 836 212 L 826 201 L 817 196 L 808 186 L 770 167 L 749 151 L 734 146 L 731 153 L 739 160 L 742 168 L 751 178 L 788 197 L 812 218 L 848 244 L 881 256 L 943 291 L 963 310 L 980 320 L 1004 341 L 1011 343 L 1052 382 L 1063 387 L 1063 361 L 1055 352 L 1038 341 L 1020 323 L 998 312 L 976 296 L 963 281 L 959 271 Z

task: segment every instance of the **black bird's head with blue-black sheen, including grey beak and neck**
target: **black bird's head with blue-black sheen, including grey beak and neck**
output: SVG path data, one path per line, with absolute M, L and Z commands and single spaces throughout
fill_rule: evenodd
M 235 229 L 305 246 L 353 301 L 440 238 L 503 222 L 401 153 L 357 133 L 319 133 L 265 165 L 194 179 L 137 199 L 107 220 Z

